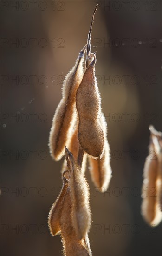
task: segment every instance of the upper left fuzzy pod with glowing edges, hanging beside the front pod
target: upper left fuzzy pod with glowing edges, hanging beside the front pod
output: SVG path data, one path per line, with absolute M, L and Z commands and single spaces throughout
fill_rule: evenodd
M 71 138 L 71 129 L 75 121 L 75 96 L 83 78 L 83 61 L 86 46 L 79 53 L 75 66 L 66 75 L 63 83 L 63 97 L 56 109 L 49 136 L 49 148 L 52 157 L 60 160 L 65 154 L 64 147 Z

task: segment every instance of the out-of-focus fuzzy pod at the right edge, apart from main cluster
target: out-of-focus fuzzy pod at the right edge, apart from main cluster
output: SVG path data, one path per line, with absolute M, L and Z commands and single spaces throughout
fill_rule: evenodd
M 151 131 L 151 129 L 150 129 Z M 142 215 L 149 225 L 158 225 L 162 220 L 162 148 L 157 134 L 151 132 L 149 156 L 145 161 L 142 187 Z

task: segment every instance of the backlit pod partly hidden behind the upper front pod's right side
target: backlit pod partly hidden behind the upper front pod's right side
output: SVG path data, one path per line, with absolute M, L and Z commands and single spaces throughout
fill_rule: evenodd
M 109 186 L 110 179 L 112 177 L 110 167 L 110 146 L 107 140 L 107 123 L 103 113 L 100 118 L 100 124 L 104 131 L 104 154 L 101 159 L 93 159 L 89 157 L 90 173 L 92 181 L 100 192 L 105 192 Z

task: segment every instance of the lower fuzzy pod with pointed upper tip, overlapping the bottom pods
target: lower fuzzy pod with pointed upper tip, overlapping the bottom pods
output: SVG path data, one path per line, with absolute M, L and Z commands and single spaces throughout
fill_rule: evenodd
M 89 232 L 91 226 L 89 188 L 81 169 L 67 148 L 65 148 L 65 154 L 70 176 L 69 187 L 72 201 L 72 223 L 78 239 L 82 239 Z

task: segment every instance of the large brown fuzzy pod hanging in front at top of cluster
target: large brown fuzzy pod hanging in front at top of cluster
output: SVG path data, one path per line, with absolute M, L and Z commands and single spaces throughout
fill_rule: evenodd
M 86 68 L 83 79 L 76 94 L 76 106 L 79 116 L 78 139 L 81 148 L 94 158 L 100 158 L 104 149 L 104 133 L 97 116 L 100 110 L 101 99 L 95 77 L 95 54 Z

